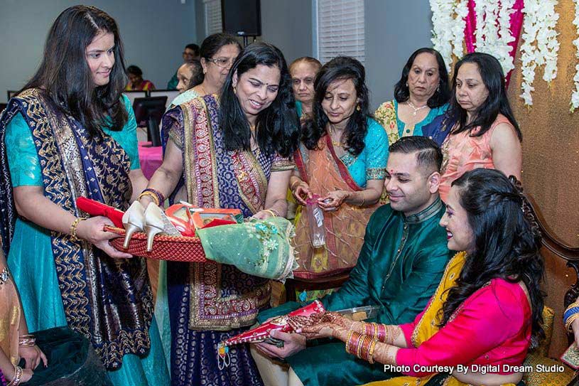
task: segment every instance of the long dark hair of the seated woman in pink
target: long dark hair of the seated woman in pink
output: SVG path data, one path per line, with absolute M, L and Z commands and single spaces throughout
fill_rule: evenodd
M 448 291 L 441 325 L 491 279 L 522 281 L 531 298 L 531 347 L 536 347 L 544 336 L 541 233 L 520 183 L 500 171 L 476 168 L 453 181 L 452 186 L 459 188 L 460 205 L 467 212 L 474 243 L 456 286 Z

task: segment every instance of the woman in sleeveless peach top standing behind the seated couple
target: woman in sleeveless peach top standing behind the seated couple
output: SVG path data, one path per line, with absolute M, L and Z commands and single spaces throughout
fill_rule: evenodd
M 521 178 L 522 135 L 507 100 L 499 61 L 486 53 L 465 55 L 455 66 L 448 116 L 455 120 L 445 139 L 440 198 L 465 171 L 494 168 Z

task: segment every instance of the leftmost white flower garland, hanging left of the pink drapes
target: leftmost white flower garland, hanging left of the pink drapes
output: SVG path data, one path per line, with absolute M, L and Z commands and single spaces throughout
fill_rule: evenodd
M 465 17 L 468 14 L 467 0 L 430 0 L 432 9 L 432 38 L 450 73 L 453 54 L 461 58 L 462 41 L 465 35 Z

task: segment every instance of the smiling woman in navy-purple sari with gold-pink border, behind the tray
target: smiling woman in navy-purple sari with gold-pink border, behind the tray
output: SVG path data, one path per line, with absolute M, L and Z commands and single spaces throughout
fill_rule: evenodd
M 298 117 L 281 51 L 248 45 L 221 95 L 171 109 L 163 137 L 163 165 L 148 188 L 199 207 L 237 208 L 245 217 L 285 215 Z M 269 304 L 269 280 L 216 263 L 170 263 L 167 279 L 172 384 L 261 385 L 249 349 L 230 350 L 231 364 L 220 369 L 217 344 L 255 323 Z

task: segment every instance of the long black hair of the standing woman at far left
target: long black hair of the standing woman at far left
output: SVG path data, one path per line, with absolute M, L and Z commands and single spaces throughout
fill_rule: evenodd
M 114 35 L 114 65 L 107 85 L 97 86 L 86 48 L 99 33 Z M 101 127 L 120 131 L 128 114 L 121 93 L 126 85 L 123 43 L 117 22 L 94 6 L 71 6 L 48 32 L 40 67 L 23 87 L 38 88 L 54 107 L 77 119 L 91 136 Z

